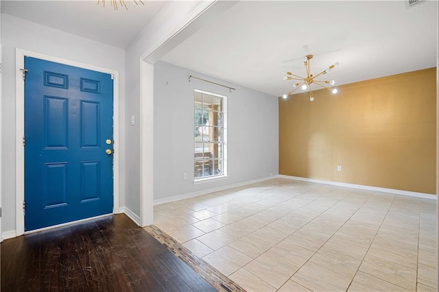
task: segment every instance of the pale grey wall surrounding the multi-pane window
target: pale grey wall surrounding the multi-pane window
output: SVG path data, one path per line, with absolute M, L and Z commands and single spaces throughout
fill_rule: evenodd
M 195 75 L 236 88 L 191 79 Z M 193 185 L 194 90 L 227 97 L 228 178 Z M 165 62 L 154 64 L 154 201 L 278 174 L 278 99 Z M 187 180 L 182 173 L 187 172 Z

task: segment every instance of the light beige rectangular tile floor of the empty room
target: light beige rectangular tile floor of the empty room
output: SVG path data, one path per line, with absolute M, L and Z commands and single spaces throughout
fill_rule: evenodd
M 154 206 L 247 291 L 436 291 L 436 200 L 274 179 Z

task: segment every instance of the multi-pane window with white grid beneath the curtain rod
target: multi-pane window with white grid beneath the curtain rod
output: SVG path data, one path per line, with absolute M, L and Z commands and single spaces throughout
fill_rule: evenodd
M 226 97 L 195 90 L 195 180 L 226 175 Z

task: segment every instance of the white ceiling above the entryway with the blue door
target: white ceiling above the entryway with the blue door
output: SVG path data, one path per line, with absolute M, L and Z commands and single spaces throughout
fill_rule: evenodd
M 126 10 L 117 0 L 118 10 L 114 10 L 110 0 L 105 1 L 105 8 L 102 0 L 99 5 L 97 0 L 1 0 L 1 12 L 126 49 L 166 4 L 165 1 L 142 1 L 145 5 L 139 0 L 139 5 L 126 0 Z

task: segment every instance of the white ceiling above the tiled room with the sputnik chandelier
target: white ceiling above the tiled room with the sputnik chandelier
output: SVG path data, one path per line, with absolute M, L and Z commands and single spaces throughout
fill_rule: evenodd
M 340 62 L 325 75 L 336 84 L 436 66 L 437 13 L 437 1 L 241 1 L 163 60 L 281 96 L 309 53 L 314 75 Z

